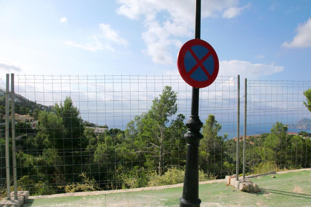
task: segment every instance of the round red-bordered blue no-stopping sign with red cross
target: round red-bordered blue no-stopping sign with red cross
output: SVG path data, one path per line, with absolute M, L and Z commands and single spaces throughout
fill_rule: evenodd
M 180 75 L 189 85 L 204 88 L 215 81 L 219 61 L 210 44 L 201 39 L 193 39 L 180 49 L 177 66 Z

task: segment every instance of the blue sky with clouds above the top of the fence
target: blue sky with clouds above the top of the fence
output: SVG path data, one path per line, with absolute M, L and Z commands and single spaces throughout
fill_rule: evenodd
M 219 75 L 309 80 L 310 11 L 309 0 L 206 0 L 201 38 L 218 54 Z M 177 74 L 193 28 L 194 0 L 0 0 L 1 78 Z

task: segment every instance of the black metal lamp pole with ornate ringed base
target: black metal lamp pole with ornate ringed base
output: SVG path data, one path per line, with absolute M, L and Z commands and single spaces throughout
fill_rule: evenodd
M 194 38 L 201 38 L 201 0 L 195 2 Z M 179 199 L 179 206 L 200 206 L 199 199 L 199 145 L 203 135 L 200 129 L 203 126 L 199 118 L 199 88 L 192 87 L 191 115 L 186 126 L 188 132 L 187 157 L 185 179 L 183 182 L 183 197 Z

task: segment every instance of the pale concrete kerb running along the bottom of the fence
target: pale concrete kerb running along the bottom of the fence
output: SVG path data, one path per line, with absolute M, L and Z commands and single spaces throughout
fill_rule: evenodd
M 288 172 L 296 172 L 301 170 L 310 170 L 311 168 L 298 169 L 298 170 L 287 170 L 277 173 L 288 173 Z M 208 183 L 216 183 L 216 182 L 226 182 L 225 179 L 217 179 L 217 180 L 208 180 L 199 182 L 200 185 L 208 184 Z M 147 191 L 147 190 L 160 190 L 166 188 L 175 188 L 175 187 L 183 187 L 183 183 L 175 184 L 175 185 L 165 185 L 165 186 L 155 186 L 155 187 L 142 187 L 142 188 L 132 188 L 132 189 L 121 189 L 121 190 L 109 190 L 109 191 L 90 191 L 90 192 L 75 192 L 75 193 L 60 193 L 53 195 L 42 195 L 42 196 L 29 196 L 29 199 L 36 198 L 57 198 L 57 197 L 66 197 L 66 196 L 93 196 L 93 195 L 102 195 L 102 194 L 110 194 L 110 193 L 123 193 L 123 192 L 137 192 L 137 191 Z

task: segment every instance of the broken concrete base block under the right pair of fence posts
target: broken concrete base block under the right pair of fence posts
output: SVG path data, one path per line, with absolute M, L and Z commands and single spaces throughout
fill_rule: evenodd
M 233 186 L 234 188 L 238 189 L 239 191 L 244 191 L 244 192 L 258 192 L 259 191 L 257 184 L 253 183 L 249 179 L 236 180 L 235 175 L 232 175 L 232 176 L 227 175 L 225 177 L 225 182 Z

